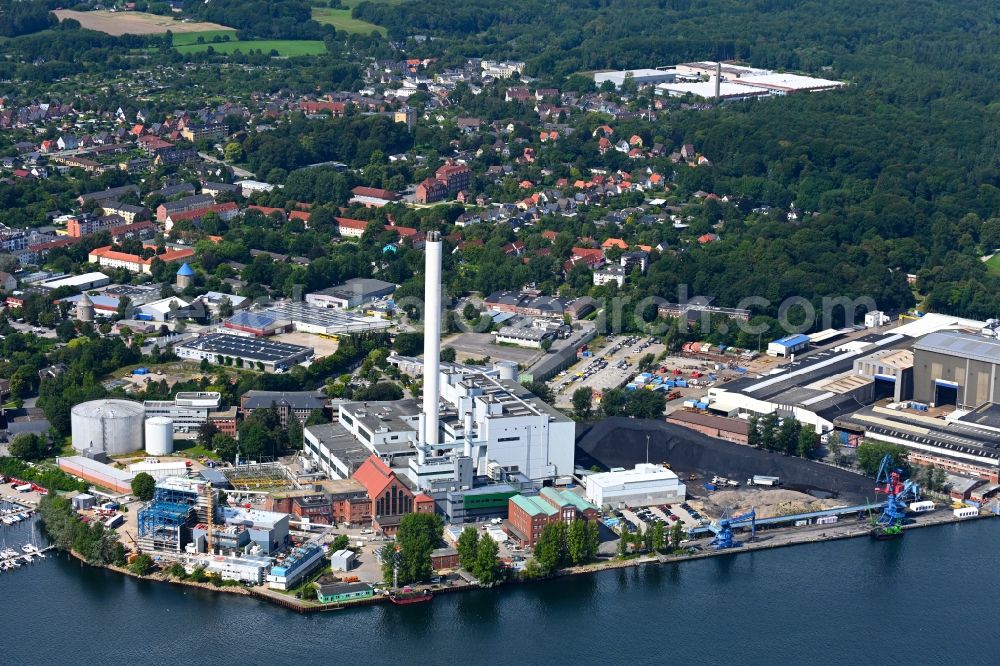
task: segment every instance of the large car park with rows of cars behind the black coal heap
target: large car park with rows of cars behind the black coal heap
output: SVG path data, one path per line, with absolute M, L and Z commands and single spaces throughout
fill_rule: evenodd
M 618 388 L 638 372 L 636 364 L 646 354 L 659 356 L 666 348 L 656 338 L 617 336 L 593 356 L 584 357 L 565 372 L 559 373 L 551 384 L 556 393 L 556 405 L 570 402 L 573 391 L 586 386 L 603 393 Z

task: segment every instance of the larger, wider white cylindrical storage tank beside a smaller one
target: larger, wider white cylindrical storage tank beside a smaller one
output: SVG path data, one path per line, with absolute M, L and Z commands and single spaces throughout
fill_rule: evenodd
M 142 450 L 142 403 L 131 400 L 91 400 L 73 408 L 73 448 L 94 448 L 108 455 Z

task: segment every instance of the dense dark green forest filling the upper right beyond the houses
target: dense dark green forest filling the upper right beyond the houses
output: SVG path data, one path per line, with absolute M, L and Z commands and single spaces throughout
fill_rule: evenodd
M 722 241 L 665 256 L 640 290 L 672 294 L 686 283 L 726 305 L 749 294 L 868 294 L 906 307 L 913 297 L 905 275 L 916 273 L 927 309 L 1000 311 L 1000 277 L 979 260 L 996 249 L 1000 226 L 992 4 L 413 0 L 366 2 L 354 14 L 397 38 L 436 36 L 414 48 L 444 64 L 524 60 L 539 84 L 712 58 L 846 80 L 849 88 L 835 94 L 671 111 L 639 130 L 669 147 L 693 143 L 711 158 L 711 168 L 674 174 L 680 192 L 736 202 L 730 210 L 706 203 L 713 210 L 699 217 L 723 222 Z M 587 154 L 570 143 L 560 149 Z M 789 224 L 783 214 L 746 215 L 757 206 L 794 206 L 802 216 Z

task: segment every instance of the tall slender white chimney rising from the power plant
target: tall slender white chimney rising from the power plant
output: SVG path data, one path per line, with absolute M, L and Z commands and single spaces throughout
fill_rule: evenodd
M 441 381 L 441 234 L 427 233 L 424 245 L 424 444 L 438 444 Z

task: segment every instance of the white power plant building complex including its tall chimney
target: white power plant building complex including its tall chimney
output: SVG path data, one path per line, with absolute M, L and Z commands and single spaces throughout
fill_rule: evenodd
M 427 236 L 423 400 L 344 403 L 338 422 L 306 429 L 306 452 L 331 478 L 347 478 L 371 455 L 443 510 L 447 494 L 471 489 L 490 469 L 525 482 L 573 473 L 574 423 L 510 379 L 501 364 L 442 364 L 441 238 Z M 499 479 L 497 479 L 499 481 Z

